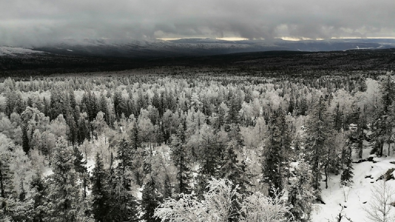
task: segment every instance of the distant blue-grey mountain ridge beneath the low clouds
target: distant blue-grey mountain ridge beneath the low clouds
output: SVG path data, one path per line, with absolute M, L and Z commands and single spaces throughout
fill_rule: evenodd
M 207 56 L 258 51 L 344 51 L 350 49 L 395 48 L 395 39 L 331 39 L 331 40 L 218 40 L 188 38 L 159 39 L 67 39 L 36 47 L 33 50 L 73 56 L 122 58 L 163 58 Z

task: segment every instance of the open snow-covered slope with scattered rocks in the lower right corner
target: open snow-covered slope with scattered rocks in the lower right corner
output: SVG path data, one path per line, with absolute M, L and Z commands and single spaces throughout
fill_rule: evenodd
M 369 151 L 364 150 L 366 156 Z M 312 222 L 337 221 L 335 218 L 343 208 L 342 215 L 346 215 L 353 222 L 369 221 L 363 206 L 369 205 L 374 184 L 380 176 L 384 175 L 388 169 L 395 168 L 394 157 L 374 158 L 374 162 L 361 162 L 353 164 L 354 184 L 350 187 L 340 185 L 340 174 L 331 175 L 328 188 L 325 189 L 325 182 L 321 183 L 321 198 L 325 204 L 315 204 L 316 212 L 312 215 Z M 387 183 L 395 189 L 395 181 L 391 179 Z M 395 198 L 395 196 L 394 196 Z M 343 218 L 341 221 L 348 221 Z

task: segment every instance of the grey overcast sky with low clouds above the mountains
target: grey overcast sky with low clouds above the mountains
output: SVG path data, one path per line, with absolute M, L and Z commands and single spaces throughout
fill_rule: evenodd
M 0 45 L 192 37 L 395 38 L 395 0 L 0 0 Z

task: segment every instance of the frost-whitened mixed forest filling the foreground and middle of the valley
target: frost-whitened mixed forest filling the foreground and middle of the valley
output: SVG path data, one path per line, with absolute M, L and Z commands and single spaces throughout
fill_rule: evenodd
M 310 221 L 355 160 L 395 156 L 393 61 L 325 55 L 9 72 L 0 220 Z

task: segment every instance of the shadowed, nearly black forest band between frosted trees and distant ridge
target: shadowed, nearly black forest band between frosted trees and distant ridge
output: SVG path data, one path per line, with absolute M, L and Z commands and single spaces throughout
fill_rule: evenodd
M 179 66 L 193 68 L 191 72 L 226 72 L 232 75 L 348 75 L 355 71 L 376 75 L 393 70 L 395 49 L 360 49 L 331 52 L 268 51 L 235 53 L 214 56 L 167 58 L 87 57 L 58 54 L 32 56 L 0 56 L 0 81 L 6 77 L 43 76 L 56 73 L 83 73 L 122 71 L 136 68 L 170 66 L 174 72 Z M 167 67 L 166 71 L 173 70 Z

